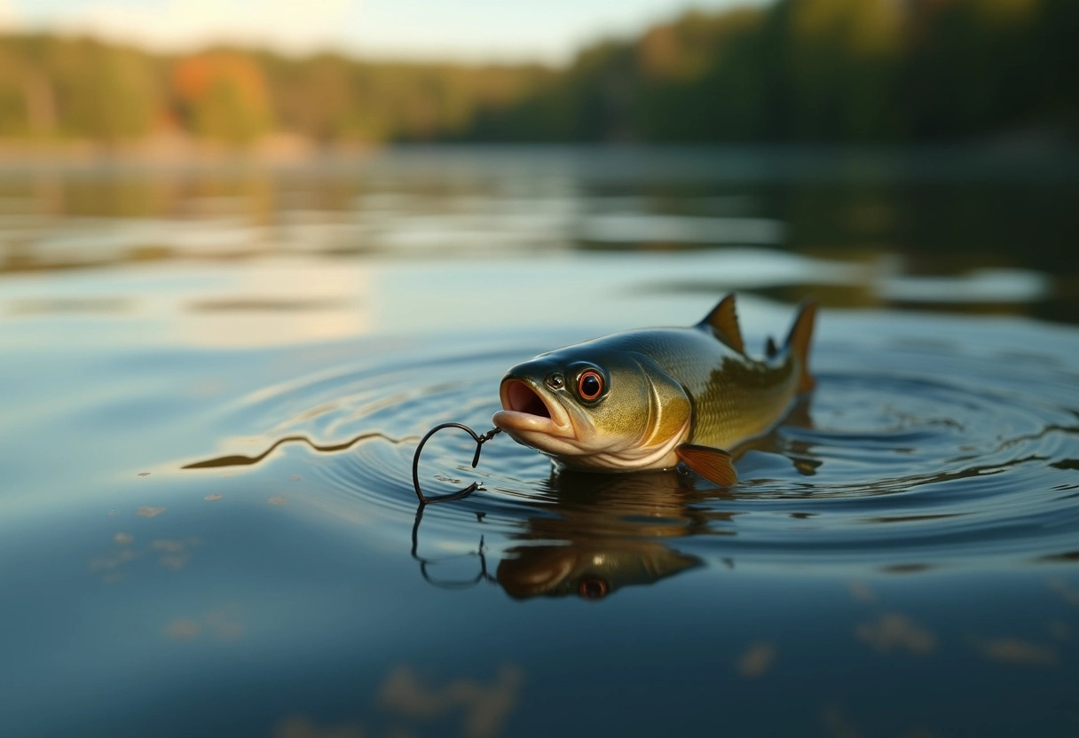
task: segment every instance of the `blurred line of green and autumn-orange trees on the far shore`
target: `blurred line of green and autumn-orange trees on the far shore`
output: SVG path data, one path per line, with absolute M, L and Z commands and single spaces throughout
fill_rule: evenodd
M 172 56 L 0 37 L 0 138 L 349 141 L 1079 138 L 1076 0 L 779 0 L 688 12 L 564 69 Z

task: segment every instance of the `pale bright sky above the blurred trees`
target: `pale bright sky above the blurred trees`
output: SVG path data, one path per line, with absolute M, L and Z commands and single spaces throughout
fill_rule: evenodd
M 156 50 L 215 41 L 415 59 L 569 60 L 688 6 L 765 0 L 0 0 L 0 28 L 90 32 Z

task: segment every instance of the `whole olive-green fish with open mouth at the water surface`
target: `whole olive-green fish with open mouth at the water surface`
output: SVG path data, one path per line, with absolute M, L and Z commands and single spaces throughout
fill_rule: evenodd
M 814 388 L 817 303 L 798 308 L 782 345 L 746 352 L 735 296 L 700 323 L 614 333 L 511 367 L 492 421 L 566 469 L 623 473 L 684 465 L 721 487 L 732 450 L 762 436 Z

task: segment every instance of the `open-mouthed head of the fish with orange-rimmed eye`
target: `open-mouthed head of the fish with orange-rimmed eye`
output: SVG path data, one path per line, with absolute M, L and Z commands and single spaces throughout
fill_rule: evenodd
M 588 343 L 513 367 L 494 424 L 570 466 L 640 468 L 687 433 L 689 399 L 651 357 Z

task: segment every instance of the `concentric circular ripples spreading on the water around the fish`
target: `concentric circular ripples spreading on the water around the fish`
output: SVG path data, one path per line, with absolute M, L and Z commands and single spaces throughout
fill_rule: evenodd
M 318 505 L 400 536 L 416 520 L 420 436 L 447 421 L 487 430 L 505 368 L 552 345 L 546 334 L 517 336 L 479 353 L 450 343 L 409 351 L 408 361 L 373 353 L 233 412 L 275 419 L 268 439 L 310 442 Z M 484 489 L 431 508 L 437 522 L 424 524 L 423 545 L 463 550 L 484 536 L 488 550 L 518 560 L 522 547 L 632 556 L 641 542 L 677 539 L 701 560 L 876 571 L 1079 556 L 1079 381 L 1061 356 L 824 341 L 814 361 L 818 388 L 737 450 L 732 490 L 679 473 L 559 474 L 505 436 L 473 469 L 474 441 L 446 432 L 425 451 L 425 488 Z M 344 448 L 325 451 L 334 442 Z

